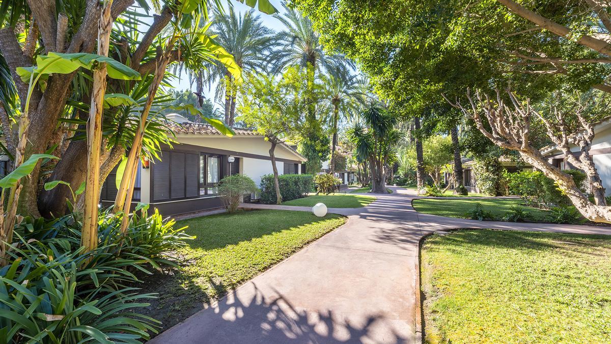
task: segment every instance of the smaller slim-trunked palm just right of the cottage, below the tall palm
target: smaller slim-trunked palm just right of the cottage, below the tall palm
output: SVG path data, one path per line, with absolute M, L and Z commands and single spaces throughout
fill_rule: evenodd
M 329 98 L 333 107 L 331 132 L 331 160 L 329 168 L 331 173 L 335 171 L 335 149 L 337 148 L 337 130 L 340 118 L 348 119 L 354 114 L 359 103 L 359 80 L 345 77 L 325 77 L 324 84 L 327 86 Z

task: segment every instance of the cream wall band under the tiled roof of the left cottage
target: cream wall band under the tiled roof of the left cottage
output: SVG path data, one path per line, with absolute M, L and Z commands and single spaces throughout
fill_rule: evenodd
M 177 135 L 176 140 L 180 143 L 194 144 L 196 146 L 265 156 L 269 156 L 269 148 L 271 148 L 271 143 L 265 141 L 262 137 L 180 134 Z M 236 156 L 239 155 L 236 154 Z M 280 159 L 303 160 L 295 152 L 282 145 L 276 146 L 274 155 Z

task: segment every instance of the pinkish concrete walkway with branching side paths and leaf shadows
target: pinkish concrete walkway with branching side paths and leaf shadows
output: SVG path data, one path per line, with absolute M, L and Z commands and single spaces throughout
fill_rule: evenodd
M 348 222 L 149 343 L 419 343 L 419 241 L 452 228 L 611 234 L 610 227 L 479 222 L 414 211 L 389 187 Z M 309 207 L 243 204 L 310 211 Z

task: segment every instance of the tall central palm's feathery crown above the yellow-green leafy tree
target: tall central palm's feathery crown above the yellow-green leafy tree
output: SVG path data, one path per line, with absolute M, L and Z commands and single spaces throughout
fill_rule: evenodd
M 276 34 L 277 48 L 269 55 L 271 72 L 277 74 L 288 66 L 307 69 L 307 78 L 314 84 L 316 73 L 327 73 L 336 78 L 348 77 L 348 67 L 354 69 L 353 62 L 341 54 L 327 54 L 320 43 L 309 18 L 284 5 L 285 15 L 275 15 L 285 30 Z M 310 121 L 315 120 L 309 111 Z

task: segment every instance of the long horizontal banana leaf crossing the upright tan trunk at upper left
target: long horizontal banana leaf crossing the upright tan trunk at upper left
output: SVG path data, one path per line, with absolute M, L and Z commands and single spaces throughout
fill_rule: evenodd
M 38 55 L 36 65 L 32 67 L 18 67 L 16 72 L 24 83 L 29 82 L 32 73 L 38 75 L 49 75 L 52 73 L 68 74 L 83 67 L 92 69 L 96 62 L 106 62 L 108 76 L 120 80 L 140 80 L 140 73 L 122 64 L 121 62 L 89 53 L 49 53 L 48 55 Z

